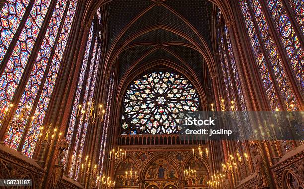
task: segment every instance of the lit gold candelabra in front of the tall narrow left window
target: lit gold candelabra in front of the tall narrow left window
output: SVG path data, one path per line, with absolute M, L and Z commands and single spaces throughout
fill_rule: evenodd
M 87 102 L 87 106 L 85 104 L 79 104 L 77 118 L 82 122 L 89 122 L 91 124 L 94 124 L 96 121 L 103 122 L 105 110 L 102 110 L 102 107 L 103 106 L 100 104 L 96 111 L 94 99 L 91 99 L 91 102 Z M 99 119 L 100 121 L 98 121 Z

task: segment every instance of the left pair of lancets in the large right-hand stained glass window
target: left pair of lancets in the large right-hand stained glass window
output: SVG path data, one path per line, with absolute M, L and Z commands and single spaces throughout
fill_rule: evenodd
M 239 0 L 239 2 L 271 110 L 276 108 L 282 110 L 283 107 L 286 108 L 286 104 L 297 104 L 260 2 L 258 0 Z M 279 93 L 276 93 L 276 88 Z M 283 104 L 280 104 L 278 99 L 282 99 Z

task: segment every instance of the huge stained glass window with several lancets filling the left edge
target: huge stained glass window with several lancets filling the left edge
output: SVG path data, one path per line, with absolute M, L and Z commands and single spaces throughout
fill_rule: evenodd
M 0 12 L 0 119 L 6 116 L 9 123 L 25 112 L 24 127 L 9 128 L 5 143 L 29 157 L 53 93 L 76 7 L 77 0 L 7 0 Z M 10 104 L 13 107 L 6 114 Z

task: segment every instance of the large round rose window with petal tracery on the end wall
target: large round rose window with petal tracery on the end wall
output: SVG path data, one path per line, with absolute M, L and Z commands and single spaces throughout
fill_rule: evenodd
M 183 76 L 152 72 L 131 83 L 124 97 L 122 134 L 178 132 L 179 113 L 197 111 L 198 95 Z

